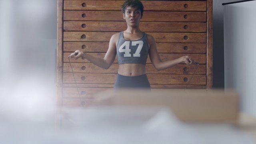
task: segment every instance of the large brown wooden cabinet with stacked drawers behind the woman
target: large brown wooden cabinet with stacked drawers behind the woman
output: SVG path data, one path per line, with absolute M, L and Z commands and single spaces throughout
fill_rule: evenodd
M 80 106 L 95 92 L 113 88 L 118 63 L 104 70 L 88 60 L 70 59 L 82 50 L 103 58 L 110 37 L 126 30 L 123 0 L 58 0 L 58 105 Z M 140 29 L 154 36 L 162 60 L 190 55 L 197 65 L 178 64 L 156 71 L 149 58 L 146 73 L 154 88 L 212 88 L 212 0 L 142 0 Z M 75 79 L 74 79 L 75 78 Z M 78 86 L 78 90 L 76 88 Z M 78 95 L 80 93 L 80 98 Z

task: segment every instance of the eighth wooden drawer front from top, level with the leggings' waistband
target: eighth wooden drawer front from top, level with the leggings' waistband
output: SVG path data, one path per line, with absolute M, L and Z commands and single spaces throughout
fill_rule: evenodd
M 80 84 L 114 84 L 116 74 L 74 74 L 76 83 Z M 205 75 L 187 74 L 148 74 L 150 84 L 206 85 Z M 191 79 L 191 80 L 190 80 Z M 64 83 L 75 83 L 73 74 L 63 74 Z

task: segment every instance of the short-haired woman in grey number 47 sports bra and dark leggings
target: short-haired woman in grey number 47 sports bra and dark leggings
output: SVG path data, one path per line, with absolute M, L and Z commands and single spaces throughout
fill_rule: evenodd
M 142 32 L 139 28 L 144 7 L 140 0 L 126 0 L 122 5 L 123 18 L 126 20 L 127 29 L 112 35 L 109 48 L 104 58 L 98 58 L 76 50 L 70 54 L 70 58 L 86 58 L 96 66 L 108 69 L 117 55 L 118 76 L 114 84 L 117 88 L 148 88 L 150 83 L 146 76 L 146 60 L 150 60 L 156 70 L 171 68 L 176 64 L 194 64 L 190 56 L 162 61 L 156 49 L 153 36 Z

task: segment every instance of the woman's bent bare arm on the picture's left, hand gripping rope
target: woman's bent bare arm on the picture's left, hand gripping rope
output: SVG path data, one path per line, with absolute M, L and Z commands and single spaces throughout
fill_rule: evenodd
M 69 57 L 75 58 L 75 59 L 78 59 L 80 57 L 82 57 L 83 59 L 86 58 L 87 60 L 89 60 L 90 62 L 95 64 L 96 66 L 99 66 L 104 69 L 108 69 L 113 64 L 113 62 L 116 58 L 116 42 L 117 42 L 118 38 L 119 38 L 119 33 L 114 34 L 110 38 L 108 51 L 106 52 L 104 58 L 98 58 L 98 57 L 92 56 L 90 54 L 87 54 L 85 52 L 82 52 L 80 50 L 76 50 L 75 52 L 70 54 Z

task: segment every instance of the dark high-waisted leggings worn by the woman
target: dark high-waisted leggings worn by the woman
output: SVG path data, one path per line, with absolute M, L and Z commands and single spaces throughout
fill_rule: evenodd
M 118 88 L 150 89 L 150 83 L 146 74 L 140 76 L 122 76 L 118 74 L 114 89 L 116 90 Z

